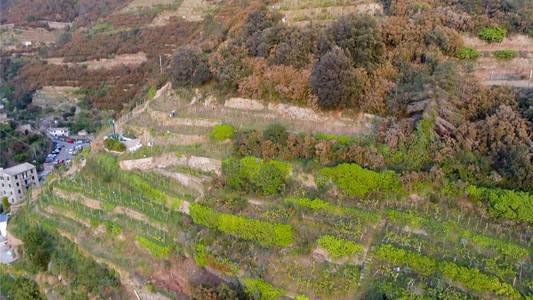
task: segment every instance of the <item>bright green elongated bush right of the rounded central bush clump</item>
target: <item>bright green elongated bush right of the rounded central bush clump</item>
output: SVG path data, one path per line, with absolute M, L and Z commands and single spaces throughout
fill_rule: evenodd
M 317 184 L 325 186 L 331 180 L 352 197 L 364 196 L 371 192 L 403 193 L 402 183 L 393 171 L 378 173 L 363 169 L 356 164 L 340 164 L 332 168 L 323 168 L 318 173 Z

